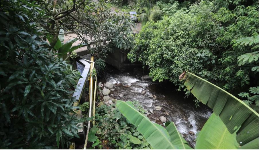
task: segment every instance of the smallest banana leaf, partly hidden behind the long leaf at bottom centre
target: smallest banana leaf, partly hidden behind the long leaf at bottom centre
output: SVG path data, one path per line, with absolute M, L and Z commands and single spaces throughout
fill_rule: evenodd
M 176 126 L 173 122 L 166 122 L 166 131 L 170 135 L 171 143 L 179 147 L 179 149 L 192 149 L 187 141 L 182 137 L 182 135 L 178 132 Z

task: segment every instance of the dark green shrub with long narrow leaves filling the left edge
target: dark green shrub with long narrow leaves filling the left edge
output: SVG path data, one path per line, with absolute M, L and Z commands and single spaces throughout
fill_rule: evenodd
M 77 136 L 72 105 L 79 73 L 47 49 L 35 2 L 1 1 L 0 148 L 68 147 Z

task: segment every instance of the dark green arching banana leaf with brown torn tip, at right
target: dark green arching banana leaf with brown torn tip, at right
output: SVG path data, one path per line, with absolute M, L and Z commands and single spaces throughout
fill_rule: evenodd
M 237 134 L 241 146 L 259 137 L 259 115 L 243 101 L 187 71 L 179 79 L 199 101 L 213 109 L 231 134 Z

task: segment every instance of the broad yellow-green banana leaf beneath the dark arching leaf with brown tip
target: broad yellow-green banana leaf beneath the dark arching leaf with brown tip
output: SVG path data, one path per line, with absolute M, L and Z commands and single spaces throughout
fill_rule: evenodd
M 195 149 L 238 149 L 236 133 L 229 133 L 219 116 L 214 113 L 202 127 Z

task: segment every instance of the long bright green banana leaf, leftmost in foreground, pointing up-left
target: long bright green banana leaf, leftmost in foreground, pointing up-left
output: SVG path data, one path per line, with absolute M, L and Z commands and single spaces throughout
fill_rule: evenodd
M 178 149 L 170 142 L 170 136 L 166 129 L 156 123 L 152 123 L 130 101 L 117 101 L 116 107 L 130 123 L 137 127 L 137 130 L 154 149 Z

